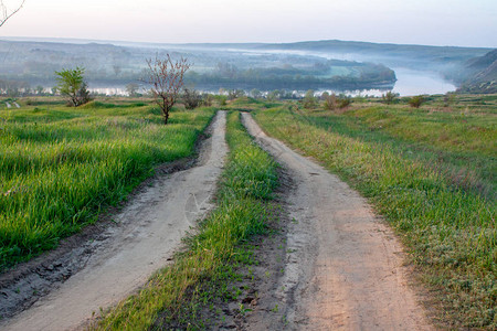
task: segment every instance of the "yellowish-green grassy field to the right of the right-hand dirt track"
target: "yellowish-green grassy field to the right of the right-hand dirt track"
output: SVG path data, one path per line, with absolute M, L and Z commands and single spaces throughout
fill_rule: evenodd
M 489 107 L 459 100 L 444 113 L 430 111 L 436 100 L 419 110 L 373 105 L 342 115 L 294 105 L 256 119 L 369 197 L 437 290 L 441 320 L 496 328 L 495 99 Z

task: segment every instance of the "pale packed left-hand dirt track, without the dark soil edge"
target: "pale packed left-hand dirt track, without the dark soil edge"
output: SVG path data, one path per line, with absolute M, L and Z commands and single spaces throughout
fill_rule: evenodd
M 30 309 L 0 323 L 1 330 L 71 330 L 142 286 L 167 265 L 195 220 L 210 209 L 228 146 L 220 111 L 200 166 L 155 182 L 114 217 L 121 224 L 86 267 Z

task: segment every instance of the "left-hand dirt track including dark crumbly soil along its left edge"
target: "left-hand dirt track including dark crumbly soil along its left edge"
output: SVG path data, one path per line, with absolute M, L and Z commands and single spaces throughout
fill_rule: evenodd
M 0 276 L 0 329 L 72 330 L 126 298 L 172 259 L 212 207 L 228 146 L 225 113 L 192 160 L 170 164 L 112 220 Z

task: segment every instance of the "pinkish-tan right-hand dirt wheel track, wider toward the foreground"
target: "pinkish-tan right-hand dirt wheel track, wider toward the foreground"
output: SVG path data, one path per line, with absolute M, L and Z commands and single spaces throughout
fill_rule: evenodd
M 400 243 L 364 199 L 267 137 L 250 114 L 243 120 L 296 185 L 284 270 L 273 290 L 261 293 L 246 329 L 431 330 L 408 286 Z

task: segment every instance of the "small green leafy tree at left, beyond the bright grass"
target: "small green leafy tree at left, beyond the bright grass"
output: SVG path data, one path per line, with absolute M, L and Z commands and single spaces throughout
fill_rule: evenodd
M 82 67 L 55 72 L 57 75 L 57 90 L 66 97 L 67 104 L 72 107 L 84 105 L 92 99 L 83 77 L 84 73 L 85 70 Z

